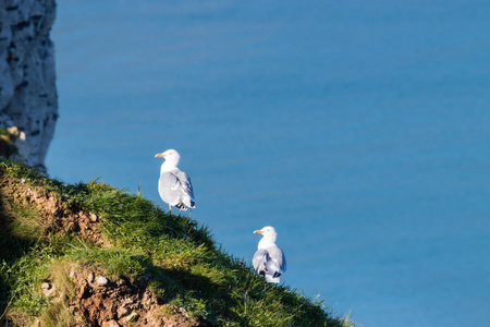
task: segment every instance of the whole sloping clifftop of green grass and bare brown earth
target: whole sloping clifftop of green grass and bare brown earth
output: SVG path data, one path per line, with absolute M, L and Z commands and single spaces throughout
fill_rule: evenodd
M 355 324 L 140 194 L 0 159 L 0 326 Z

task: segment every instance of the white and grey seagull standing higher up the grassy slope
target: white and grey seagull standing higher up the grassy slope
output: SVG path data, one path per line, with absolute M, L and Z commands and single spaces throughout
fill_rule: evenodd
M 181 159 L 179 153 L 174 149 L 168 149 L 162 154 L 157 154 L 155 158 L 166 159 L 160 168 L 158 193 L 160 193 L 161 199 L 169 204 L 170 214 L 172 214 L 172 206 L 179 208 L 179 216 L 181 210 L 195 208 L 191 178 L 176 167 Z

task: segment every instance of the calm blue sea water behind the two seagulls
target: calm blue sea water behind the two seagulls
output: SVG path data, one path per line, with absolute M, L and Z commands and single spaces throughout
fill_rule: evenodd
M 58 1 L 47 166 L 192 218 L 358 326 L 488 326 L 490 2 Z

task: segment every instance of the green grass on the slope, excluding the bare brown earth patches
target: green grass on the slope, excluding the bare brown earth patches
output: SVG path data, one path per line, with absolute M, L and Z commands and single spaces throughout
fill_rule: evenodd
M 40 316 L 51 305 L 38 290 L 53 263 L 73 262 L 105 270 L 112 278 L 149 286 L 161 303 L 183 306 L 219 326 L 351 326 L 331 317 L 321 303 L 285 286 L 267 284 L 217 245 L 206 227 L 169 216 L 139 195 L 91 182 L 66 185 L 11 161 L 0 162 L 0 180 L 11 177 L 41 186 L 72 208 L 96 213 L 106 244 L 77 234 L 56 235 L 37 228 L 39 214 L 0 203 L 0 315 Z M 13 221 L 7 226 L 5 221 Z M 8 250 L 7 250 L 8 249 Z M 50 270 L 51 269 L 51 270 Z

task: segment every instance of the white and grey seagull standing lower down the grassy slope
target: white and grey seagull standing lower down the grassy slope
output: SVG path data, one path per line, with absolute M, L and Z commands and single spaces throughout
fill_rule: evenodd
M 254 231 L 255 234 L 262 234 L 258 250 L 252 261 L 255 271 L 266 276 L 267 282 L 279 282 L 279 276 L 286 270 L 284 252 L 275 245 L 278 233 L 271 226 Z

